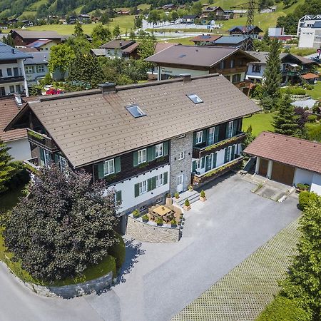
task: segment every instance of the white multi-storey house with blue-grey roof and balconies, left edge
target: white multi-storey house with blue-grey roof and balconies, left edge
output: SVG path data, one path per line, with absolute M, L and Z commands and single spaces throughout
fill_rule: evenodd
M 27 54 L 0 42 L 0 97 L 21 93 L 29 96 L 24 71 Z

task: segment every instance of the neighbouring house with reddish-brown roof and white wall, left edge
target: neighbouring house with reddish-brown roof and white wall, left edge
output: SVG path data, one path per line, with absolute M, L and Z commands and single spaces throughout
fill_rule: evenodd
M 10 147 L 8 153 L 14 158 L 14 161 L 24 161 L 31 158 L 26 129 L 4 131 L 9 121 L 16 116 L 25 103 L 24 98 L 19 95 L 15 98 L 0 98 L 0 139 L 6 143 L 6 146 Z

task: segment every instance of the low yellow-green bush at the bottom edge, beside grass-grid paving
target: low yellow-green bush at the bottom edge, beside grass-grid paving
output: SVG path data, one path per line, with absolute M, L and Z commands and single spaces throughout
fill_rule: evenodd
M 296 301 L 277 295 L 256 321 L 308 321 L 310 317 Z

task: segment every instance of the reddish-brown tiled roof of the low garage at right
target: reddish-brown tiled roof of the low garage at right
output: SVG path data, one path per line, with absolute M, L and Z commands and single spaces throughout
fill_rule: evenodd
M 263 131 L 244 152 L 321 173 L 321 143 Z

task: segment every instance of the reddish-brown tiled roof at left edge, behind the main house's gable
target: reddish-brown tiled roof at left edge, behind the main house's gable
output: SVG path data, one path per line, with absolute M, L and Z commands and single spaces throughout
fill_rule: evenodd
M 4 128 L 16 116 L 19 108 L 14 98 L 0 100 L 0 139 L 1 141 L 14 141 L 15 139 L 26 138 L 26 129 L 14 129 L 4 132 Z

